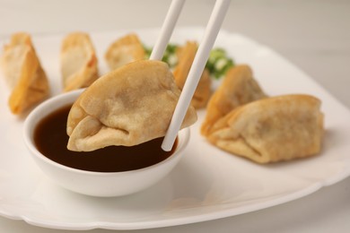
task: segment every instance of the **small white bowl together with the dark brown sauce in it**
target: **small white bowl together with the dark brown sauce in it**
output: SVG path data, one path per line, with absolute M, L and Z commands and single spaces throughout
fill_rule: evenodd
M 92 152 L 95 155 L 68 151 L 66 116 L 81 93 L 82 90 L 70 91 L 48 99 L 33 109 L 24 122 L 25 145 L 39 168 L 57 185 L 93 196 L 134 194 L 153 186 L 178 164 L 188 145 L 188 128 L 179 131 L 171 152 L 162 151 L 162 138 L 139 144 L 134 152 L 133 147 L 123 146 Z M 57 138 L 57 134 L 64 139 Z M 111 152 L 103 154 L 104 150 Z

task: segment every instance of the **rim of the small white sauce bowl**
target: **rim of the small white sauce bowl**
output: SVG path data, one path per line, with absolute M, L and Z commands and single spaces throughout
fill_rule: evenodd
M 24 126 L 22 130 L 22 138 L 24 141 L 24 144 L 26 145 L 26 148 L 31 152 L 32 156 L 35 156 L 39 160 L 42 160 L 45 163 L 48 163 L 51 166 L 54 166 L 56 168 L 65 169 L 70 172 L 74 172 L 77 174 L 85 174 L 85 175 L 93 175 L 93 176 L 124 176 L 124 175 L 130 175 L 131 173 L 139 173 L 144 170 L 149 170 L 152 168 L 157 168 L 162 166 L 162 164 L 167 163 L 171 160 L 175 160 L 177 158 L 176 155 L 179 156 L 179 154 L 185 150 L 185 148 L 188 145 L 189 137 L 190 137 L 190 130 L 189 127 L 183 128 L 179 131 L 179 134 L 181 134 L 181 142 L 179 143 L 175 151 L 169 156 L 167 159 L 162 160 L 158 163 L 155 163 L 151 166 L 145 167 L 145 168 L 138 168 L 133 170 L 127 170 L 127 171 L 116 171 L 116 172 L 101 172 L 101 171 L 89 171 L 89 170 L 83 170 L 78 168 L 71 168 L 66 165 L 60 164 L 54 160 L 48 159 L 45 155 L 43 155 L 35 146 L 34 140 L 33 140 L 33 132 L 35 129 L 35 126 L 39 123 L 39 121 L 44 118 L 45 116 L 48 116 L 49 113 L 57 110 L 58 108 L 66 106 L 66 104 L 69 104 L 69 102 L 74 102 L 74 99 L 78 98 L 78 96 L 84 91 L 84 89 L 75 90 L 75 91 L 69 91 L 66 93 L 60 93 L 57 96 L 54 96 L 52 98 L 46 99 L 42 103 L 40 103 L 36 108 L 34 108 L 29 116 L 26 117 L 24 120 Z M 59 103 L 57 105 L 57 102 Z M 53 108 L 52 106 L 56 105 L 56 108 Z M 51 107 L 51 108 L 50 108 Z M 50 108 L 50 109 L 48 109 Z M 41 112 L 48 112 L 47 114 L 39 114 Z M 39 118 L 38 118 L 39 116 Z M 178 134 L 178 136 L 179 136 Z M 183 138 L 183 139 L 182 139 Z

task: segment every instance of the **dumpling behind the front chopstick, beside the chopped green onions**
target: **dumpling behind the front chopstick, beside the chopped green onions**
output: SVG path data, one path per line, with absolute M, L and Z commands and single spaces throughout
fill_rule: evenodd
M 186 79 L 188 78 L 189 69 L 195 59 L 197 53 L 197 43 L 196 42 L 187 42 L 184 47 L 179 47 L 177 56 L 179 63 L 174 68 L 174 77 L 175 82 L 178 85 L 179 89 L 182 90 L 185 85 Z M 210 97 L 211 91 L 211 79 L 210 73 L 207 69 L 205 69 L 200 77 L 200 80 L 197 85 L 197 89 L 193 98 L 191 100 L 191 104 L 195 108 L 204 108 L 206 107 L 206 103 Z

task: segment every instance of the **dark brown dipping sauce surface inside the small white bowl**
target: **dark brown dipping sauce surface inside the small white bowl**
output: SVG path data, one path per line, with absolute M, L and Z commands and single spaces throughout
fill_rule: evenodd
M 96 151 L 78 152 L 66 149 L 68 135 L 66 121 L 72 106 L 58 108 L 44 117 L 34 130 L 38 150 L 49 160 L 70 168 L 97 172 L 120 172 L 146 168 L 166 160 L 175 151 L 162 151 L 163 138 L 156 138 L 136 146 L 109 146 Z

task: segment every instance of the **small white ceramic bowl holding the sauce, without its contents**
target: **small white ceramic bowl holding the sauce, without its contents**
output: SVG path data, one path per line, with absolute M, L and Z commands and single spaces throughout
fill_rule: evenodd
M 80 194 L 93 196 L 120 196 L 133 194 L 165 177 L 179 162 L 189 140 L 189 129 L 183 129 L 178 135 L 178 146 L 166 160 L 147 168 L 123 172 L 93 172 L 69 168 L 41 154 L 34 145 L 33 133 L 39 121 L 57 108 L 71 104 L 82 93 L 71 91 L 48 99 L 37 108 L 24 122 L 24 142 L 39 168 L 58 185 Z

